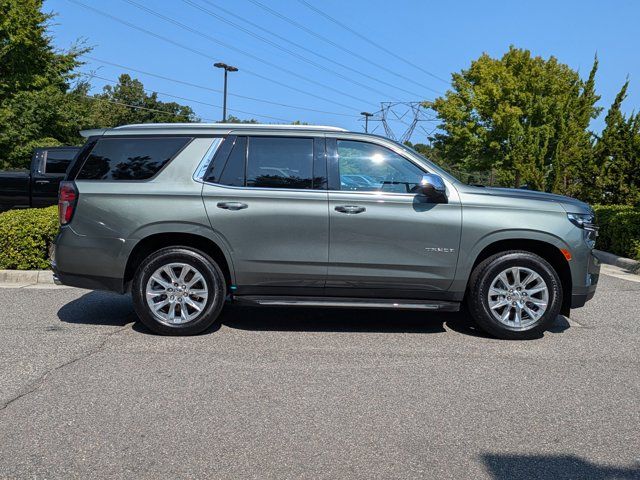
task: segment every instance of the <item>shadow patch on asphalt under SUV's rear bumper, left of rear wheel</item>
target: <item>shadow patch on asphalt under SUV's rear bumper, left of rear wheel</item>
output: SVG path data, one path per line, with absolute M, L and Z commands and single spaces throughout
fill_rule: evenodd
M 67 303 L 58 310 L 66 323 L 125 326 L 138 319 L 129 295 L 93 291 Z

